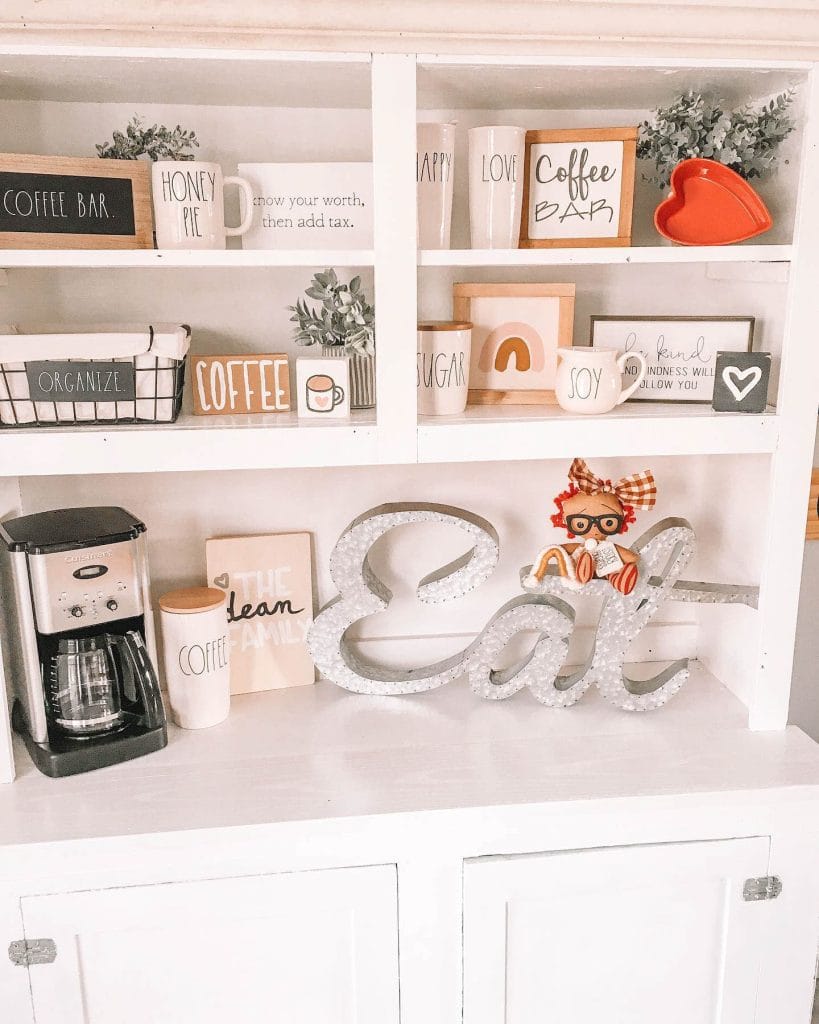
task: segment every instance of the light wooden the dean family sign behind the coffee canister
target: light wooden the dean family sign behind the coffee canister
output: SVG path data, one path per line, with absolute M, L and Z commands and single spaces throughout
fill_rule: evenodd
M 309 534 L 217 537 L 206 543 L 208 586 L 227 593 L 230 691 L 315 682 Z

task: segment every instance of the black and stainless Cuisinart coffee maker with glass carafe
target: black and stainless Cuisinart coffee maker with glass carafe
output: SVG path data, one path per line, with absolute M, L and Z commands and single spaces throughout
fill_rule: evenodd
M 120 508 L 57 509 L 0 523 L 16 613 L 12 723 L 53 778 L 168 742 L 144 531 Z

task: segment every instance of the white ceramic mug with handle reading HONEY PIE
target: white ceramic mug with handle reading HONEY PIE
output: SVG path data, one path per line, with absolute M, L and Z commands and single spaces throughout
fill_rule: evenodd
M 158 249 L 224 249 L 228 237 L 244 234 L 250 227 L 250 182 L 235 175 L 223 177 L 218 164 L 159 160 L 150 176 Z M 225 226 L 225 185 L 239 185 L 245 194 L 245 217 L 239 227 Z

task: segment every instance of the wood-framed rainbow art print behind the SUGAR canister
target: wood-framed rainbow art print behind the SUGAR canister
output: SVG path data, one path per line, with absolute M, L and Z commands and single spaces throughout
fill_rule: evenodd
M 455 318 L 472 324 L 469 403 L 557 403 L 557 350 L 571 348 L 574 291 L 574 285 L 452 286 Z

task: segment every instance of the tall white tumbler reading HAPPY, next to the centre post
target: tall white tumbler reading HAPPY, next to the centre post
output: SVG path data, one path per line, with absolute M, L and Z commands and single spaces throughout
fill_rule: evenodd
M 455 125 L 416 128 L 418 248 L 448 249 L 455 182 Z

